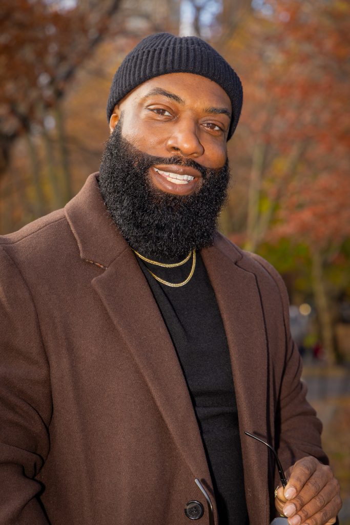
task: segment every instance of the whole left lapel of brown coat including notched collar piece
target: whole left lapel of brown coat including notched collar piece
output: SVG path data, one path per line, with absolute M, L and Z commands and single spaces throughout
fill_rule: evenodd
M 172 340 L 134 254 L 107 214 L 96 174 L 90 175 L 68 203 L 66 215 L 81 258 L 101 267 L 92 286 L 139 366 L 174 442 L 194 478 L 211 486 L 196 416 Z

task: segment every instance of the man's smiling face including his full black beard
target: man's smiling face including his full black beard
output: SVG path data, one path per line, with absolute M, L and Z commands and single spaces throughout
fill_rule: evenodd
M 139 253 L 169 260 L 213 244 L 229 181 L 229 111 L 217 84 L 189 74 L 147 81 L 114 109 L 99 187 Z

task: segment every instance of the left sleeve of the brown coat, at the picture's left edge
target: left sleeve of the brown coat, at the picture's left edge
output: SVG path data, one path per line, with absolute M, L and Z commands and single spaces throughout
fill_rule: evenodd
M 0 246 L 0 523 L 47 525 L 35 476 L 49 450 L 49 366 L 22 275 Z

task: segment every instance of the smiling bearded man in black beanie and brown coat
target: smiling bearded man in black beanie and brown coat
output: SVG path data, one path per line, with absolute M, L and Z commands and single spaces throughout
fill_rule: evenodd
M 204 41 L 145 38 L 100 173 L 2 238 L 2 525 L 335 522 L 281 278 L 215 230 L 241 103 Z

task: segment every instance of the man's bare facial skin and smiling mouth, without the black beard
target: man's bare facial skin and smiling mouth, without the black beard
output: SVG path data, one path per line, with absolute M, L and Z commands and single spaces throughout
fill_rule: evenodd
M 137 150 L 162 158 L 178 156 L 218 169 L 227 158 L 231 103 L 217 83 L 189 73 L 152 78 L 115 108 L 111 132 L 123 114 L 123 137 Z M 151 184 L 165 193 L 190 195 L 203 183 L 195 167 L 155 164 Z

